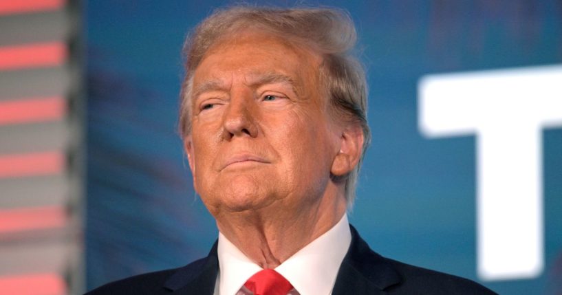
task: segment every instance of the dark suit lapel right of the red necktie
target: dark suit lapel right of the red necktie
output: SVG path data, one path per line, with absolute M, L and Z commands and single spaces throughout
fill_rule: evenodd
M 400 283 L 400 275 L 384 257 L 373 252 L 353 226 L 352 243 L 341 263 L 333 295 L 386 294 L 385 288 Z

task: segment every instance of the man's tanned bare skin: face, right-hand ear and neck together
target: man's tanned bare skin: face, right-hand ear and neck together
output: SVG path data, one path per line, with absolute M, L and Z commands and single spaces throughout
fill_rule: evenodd
M 195 190 L 219 230 L 261 267 L 276 267 L 345 213 L 331 175 L 356 166 L 359 127 L 330 118 L 321 58 L 248 32 L 215 44 L 193 77 L 184 139 Z

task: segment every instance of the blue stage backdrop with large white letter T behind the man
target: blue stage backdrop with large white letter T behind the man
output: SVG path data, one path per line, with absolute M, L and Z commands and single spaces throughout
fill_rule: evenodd
M 288 6 L 293 1 L 266 3 Z M 206 255 L 217 237 L 213 219 L 193 191 L 176 123 L 180 51 L 186 32 L 225 4 L 231 2 L 86 2 L 88 289 L 184 265 Z M 552 83 L 533 88 L 525 79 L 448 90 L 446 83 L 440 83 L 448 77 L 465 77 L 448 75 L 457 72 L 508 69 L 477 76 L 501 79 L 514 68 L 562 64 L 562 2 L 309 4 L 349 11 L 358 28 L 360 57 L 367 66 L 373 142 L 349 215 L 363 238 L 382 255 L 465 276 L 500 294 L 560 294 L 560 89 Z M 556 80 L 557 67 L 537 71 L 532 73 L 554 73 L 550 80 L 562 83 Z M 430 74 L 446 76 L 426 77 Z M 510 105 L 516 101 L 510 96 L 521 92 L 517 87 L 526 91 L 523 106 L 528 107 Z M 543 91 L 548 87 L 554 92 Z M 443 89 L 448 92 L 440 92 Z M 517 91 L 508 91 L 507 99 L 494 103 L 510 89 Z M 440 93 L 451 100 L 438 101 Z M 478 97 L 474 103 L 458 98 L 465 93 Z M 543 100 L 551 94 L 553 98 Z M 534 105 L 535 100 L 542 109 Z M 475 105 L 476 101 L 481 104 Z M 495 105 L 495 113 L 486 111 L 490 104 Z M 514 108 L 519 110 L 515 117 Z M 545 119 L 548 122 L 542 120 L 544 113 L 552 117 Z M 455 127 L 462 118 L 474 121 L 474 126 Z M 512 138 L 518 138 L 519 129 L 525 129 L 518 118 L 536 121 L 529 129 L 532 136 L 519 142 L 535 150 L 515 153 L 520 150 L 517 140 L 506 144 L 503 129 L 495 129 L 490 133 L 498 135 L 491 138 L 500 143 L 495 145 L 499 146 L 495 155 L 509 155 L 495 168 L 505 175 L 530 171 L 530 179 L 509 182 L 509 176 L 502 187 L 482 168 L 495 163 L 494 157 L 482 156 L 483 142 L 490 142 L 483 140 L 481 135 L 488 133 L 482 130 L 490 122 L 504 122 L 490 126 L 509 129 Z M 440 133 L 440 128 L 451 130 Z M 528 161 L 519 161 L 523 158 Z M 527 187 L 523 185 L 527 182 L 529 192 L 514 193 L 508 187 Z M 484 213 L 484 208 L 489 212 Z M 524 222 L 517 223 L 514 216 Z M 504 237 L 497 233 L 506 234 L 506 239 L 495 242 L 494 237 Z M 512 247 L 510 241 L 515 242 Z M 503 263 L 486 256 L 498 253 L 495 245 L 508 254 Z

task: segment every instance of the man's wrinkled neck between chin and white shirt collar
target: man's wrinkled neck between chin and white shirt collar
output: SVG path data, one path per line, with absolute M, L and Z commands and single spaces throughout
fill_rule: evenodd
M 314 210 L 281 208 L 232 212 L 215 217 L 224 236 L 263 269 L 274 268 L 341 220 L 343 195 L 323 197 Z

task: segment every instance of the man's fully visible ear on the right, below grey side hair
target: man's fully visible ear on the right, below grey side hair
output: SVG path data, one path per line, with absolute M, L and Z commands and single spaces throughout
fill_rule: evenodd
M 330 172 L 335 176 L 343 176 L 351 172 L 359 163 L 363 153 L 363 129 L 352 124 L 343 129 L 340 137 L 340 150 L 334 157 Z

